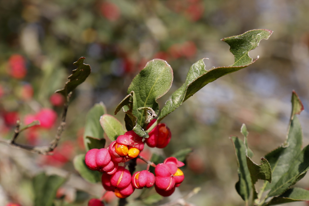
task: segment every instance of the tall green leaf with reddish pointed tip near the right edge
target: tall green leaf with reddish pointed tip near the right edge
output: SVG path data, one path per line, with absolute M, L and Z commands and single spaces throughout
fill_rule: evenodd
M 292 108 L 297 107 L 299 108 L 299 106 L 301 105 L 301 101 L 299 99 L 296 101 L 295 97 L 297 96 L 293 92 Z M 292 109 L 292 114 L 294 114 L 294 111 L 296 110 Z M 297 177 L 298 171 L 294 170 L 298 168 L 293 169 L 291 167 L 293 167 L 294 164 L 296 164 L 298 161 L 302 161 L 301 159 L 299 159 L 300 158 L 299 155 L 302 151 L 301 150 L 302 144 L 303 144 L 303 132 L 300 122 L 295 113 L 294 116 L 291 117 L 286 142 L 279 148 L 275 149 L 274 151 L 270 152 L 265 156 L 273 172 L 272 184 L 265 183 L 267 184 L 265 190 L 269 190 L 271 188 L 271 191 L 268 194 L 269 196 L 282 194 L 282 192 L 287 190 L 291 186 L 291 184 L 293 184 L 293 182 L 298 178 Z M 287 172 L 289 172 L 290 170 L 294 170 L 293 174 L 291 174 L 294 177 L 292 182 L 288 181 L 290 183 L 290 185 L 288 186 L 286 185 L 288 182 L 286 182 L 286 180 L 283 179 L 284 177 L 289 176 Z

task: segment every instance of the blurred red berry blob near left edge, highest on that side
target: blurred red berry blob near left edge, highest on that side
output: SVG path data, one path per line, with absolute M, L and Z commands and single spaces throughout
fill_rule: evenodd
M 13 54 L 9 58 L 10 75 L 16 79 L 22 79 L 27 74 L 26 62 L 20 54 Z

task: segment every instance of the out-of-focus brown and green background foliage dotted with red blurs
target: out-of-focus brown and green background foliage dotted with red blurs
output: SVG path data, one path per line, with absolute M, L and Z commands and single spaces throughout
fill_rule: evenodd
M 250 132 L 254 161 L 259 162 L 285 140 L 295 90 L 305 107 L 300 120 L 304 144 L 309 143 L 305 126 L 309 123 L 308 11 L 306 0 L 0 1 L 1 139 L 11 138 L 17 118 L 26 124 L 49 108 L 58 119 L 23 132 L 18 140 L 47 145 L 63 104 L 54 91 L 63 87 L 79 57 L 86 57 L 92 69 L 73 94 L 66 131 L 53 156 L 0 144 L 0 205 L 8 201 L 32 205 L 31 178 L 40 171 L 68 177 L 57 196 L 63 205 L 87 205 L 87 198 L 99 198 L 103 187 L 81 179 L 72 166 L 74 155 L 85 152 L 81 138 L 87 111 L 102 101 L 113 114 L 133 77 L 153 58 L 166 60 L 174 71 L 171 90 L 158 100 L 162 108 L 184 82 L 190 65 L 200 58 L 209 58 L 205 61 L 209 68 L 233 63 L 229 46 L 220 39 L 263 28 L 274 32 L 250 52 L 260 59 L 205 86 L 167 116 L 163 122 L 171 129 L 171 143 L 164 152 L 151 150 L 167 157 L 193 148 L 184 183 L 158 204 L 201 187 L 189 202 L 243 205 L 234 187 L 237 163 L 228 138 L 231 134 L 242 137 L 242 123 Z M 123 121 L 124 114 L 116 117 Z M 308 188 L 308 184 L 305 177 L 298 186 Z M 134 194 L 137 197 L 139 191 Z M 106 201 L 116 204 L 112 197 Z

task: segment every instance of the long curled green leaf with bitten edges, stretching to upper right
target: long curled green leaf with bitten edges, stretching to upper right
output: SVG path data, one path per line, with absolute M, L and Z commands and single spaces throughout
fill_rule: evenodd
M 205 58 L 195 62 L 190 67 L 184 84 L 165 103 L 158 120 L 161 121 L 208 83 L 254 63 L 257 59 L 252 61 L 252 58 L 248 56 L 249 51 L 255 49 L 259 45 L 260 40 L 268 39 L 271 34 L 272 31 L 270 30 L 256 29 L 238 36 L 222 39 L 231 46 L 230 51 L 234 54 L 235 63 L 226 67 L 213 67 L 206 70 L 203 61 Z

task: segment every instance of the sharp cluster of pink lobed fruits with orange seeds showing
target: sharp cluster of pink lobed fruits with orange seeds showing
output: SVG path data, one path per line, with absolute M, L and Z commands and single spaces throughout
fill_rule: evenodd
M 148 128 L 155 122 L 152 120 Z M 171 132 L 166 124 L 159 123 L 145 140 L 150 147 L 165 147 L 171 139 Z M 184 180 L 184 173 L 179 167 L 184 166 L 175 157 L 169 157 L 163 163 L 155 166 L 155 174 L 142 170 L 130 174 L 121 162 L 137 158 L 144 149 L 143 138 L 134 131 L 125 132 L 117 137 L 108 149 L 91 149 L 86 153 L 85 162 L 89 169 L 103 172 L 102 185 L 106 191 L 113 191 L 119 198 L 126 198 L 135 189 L 155 186 L 155 190 L 162 196 L 169 196 Z

